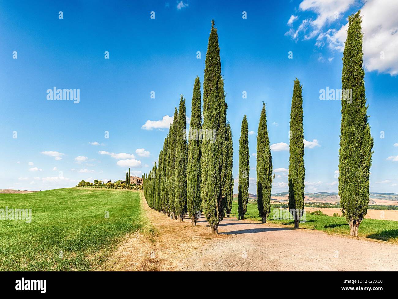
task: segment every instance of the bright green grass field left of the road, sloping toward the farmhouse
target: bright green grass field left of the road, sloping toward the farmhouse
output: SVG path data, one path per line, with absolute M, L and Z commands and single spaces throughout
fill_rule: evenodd
M 0 271 L 93 270 L 128 232 L 146 225 L 139 192 L 127 190 L 0 194 L 0 209 L 6 206 L 32 209 L 32 221 L 0 220 Z

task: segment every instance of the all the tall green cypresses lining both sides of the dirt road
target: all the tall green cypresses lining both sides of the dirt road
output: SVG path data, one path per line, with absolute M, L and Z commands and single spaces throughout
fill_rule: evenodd
M 373 153 L 373 138 L 367 121 L 360 12 L 349 17 L 341 77 L 343 90 L 352 90 L 352 100 L 341 100 L 339 196 L 352 236 L 357 236 L 359 224 L 367 213 Z M 159 167 L 156 168 L 155 163 L 143 178 L 144 194 L 150 207 L 174 219 L 179 217 L 181 221 L 188 211 L 193 225 L 196 225 L 198 213 L 204 212 L 213 233 L 218 232 L 220 221 L 225 215 L 229 216 L 232 209 L 233 149 L 232 132 L 226 121 L 227 108 L 218 33 L 212 21 L 203 82 L 203 124 L 200 81 L 197 77 L 193 87 L 189 134 L 185 135 L 189 136 L 188 144 L 183 138 L 186 130 L 185 99 L 181 95 L 179 110 L 175 109 L 173 124 L 159 154 Z M 302 85 L 297 78 L 290 116 L 289 211 L 293 215 L 295 228 L 298 228 L 304 212 L 305 168 Z M 191 132 L 198 129 L 215 130 L 215 140 L 191 138 Z M 238 219 L 243 219 L 247 210 L 249 159 L 248 121 L 245 115 L 239 139 Z M 263 223 L 271 211 L 274 178 L 263 103 L 257 135 L 257 205 Z

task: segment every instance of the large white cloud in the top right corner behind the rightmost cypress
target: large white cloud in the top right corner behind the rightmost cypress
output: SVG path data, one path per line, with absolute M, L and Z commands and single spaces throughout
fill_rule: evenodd
M 398 1 L 396 0 L 365 0 L 363 2 L 358 0 L 304 0 L 300 3 L 300 10 L 315 12 L 317 14 L 316 20 L 306 19 L 309 26 L 301 28 L 301 30 L 290 28 L 286 35 L 291 35 L 294 39 L 297 39 L 298 33 L 301 31 L 305 33 L 310 28 L 311 32 L 304 35 L 304 39 L 317 36 L 317 46 L 323 46 L 326 39 L 330 49 L 343 51 L 348 24 L 339 29 L 324 30 L 323 28 L 341 19 L 354 3 L 363 3 L 361 16 L 363 16 L 363 62 L 365 69 L 397 75 L 398 18 L 396 12 L 398 11 Z M 335 19 L 335 12 L 339 13 L 338 19 Z M 384 54 L 383 58 L 382 53 Z

